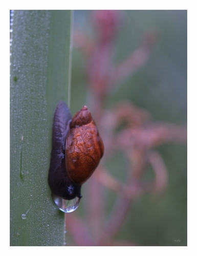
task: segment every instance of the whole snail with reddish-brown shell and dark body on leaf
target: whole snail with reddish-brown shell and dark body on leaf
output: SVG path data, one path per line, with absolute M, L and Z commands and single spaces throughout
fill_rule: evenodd
M 57 104 L 53 120 L 48 182 L 52 194 L 65 200 L 81 196 L 104 153 L 97 126 L 86 106 L 72 118 L 67 104 Z

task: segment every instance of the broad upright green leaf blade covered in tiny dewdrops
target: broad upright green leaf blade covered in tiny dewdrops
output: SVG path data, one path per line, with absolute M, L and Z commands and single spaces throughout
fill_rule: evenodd
M 10 68 L 10 245 L 62 246 L 64 214 L 47 177 L 52 122 L 68 102 L 69 10 L 13 12 Z

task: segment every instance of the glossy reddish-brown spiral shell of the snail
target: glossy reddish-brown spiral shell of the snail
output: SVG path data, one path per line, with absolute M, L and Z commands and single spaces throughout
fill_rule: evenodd
M 65 140 L 65 168 L 70 179 L 83 184 L 93 174 L 104 153 L 97 126 L 86 106 L 75 114 Z

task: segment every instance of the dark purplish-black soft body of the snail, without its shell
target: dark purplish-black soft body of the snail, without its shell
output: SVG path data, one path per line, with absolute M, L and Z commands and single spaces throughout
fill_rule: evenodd
M 57 104 L 52 135 L 52 152 L 48 182 L 52 193 L 66 200 L 81 198 L 81 186 L 69 177 L 65 167 L 65 138 L 70 130 L 72 116 L 63 101 Z

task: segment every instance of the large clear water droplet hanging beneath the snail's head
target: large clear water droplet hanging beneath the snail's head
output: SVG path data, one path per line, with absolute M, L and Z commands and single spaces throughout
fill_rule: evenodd
M 61 197 L 53 195 L 53 200 L 60 210 L 63 212 L 72 212 L 77 209 L 80 198 L 76 197 L 72 200 L 65 200 Z

